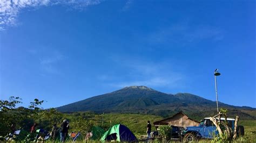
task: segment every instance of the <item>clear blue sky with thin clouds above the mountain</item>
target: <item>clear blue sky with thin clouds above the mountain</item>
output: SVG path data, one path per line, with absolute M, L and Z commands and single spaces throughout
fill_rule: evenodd
M 256 108 L 255 1 L 1 1 L 0 97 L 57 107 L 130 85 Z

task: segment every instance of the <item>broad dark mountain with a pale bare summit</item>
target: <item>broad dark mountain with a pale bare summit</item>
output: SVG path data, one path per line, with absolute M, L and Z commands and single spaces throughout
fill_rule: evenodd
M 219 102 L 229 115 L 256 119 L 256 110 L 246 106 L 233 106 Z M 144 113 L 171 116 L 183 111 L 194 118 L 207 117 L 216 112 L 216 102 L 188 93 L 165 94 L 145 86 L 131 86 L 107 94 L 94 96 L 57 108 L 61 112 L 94 111 L 118 113 Z

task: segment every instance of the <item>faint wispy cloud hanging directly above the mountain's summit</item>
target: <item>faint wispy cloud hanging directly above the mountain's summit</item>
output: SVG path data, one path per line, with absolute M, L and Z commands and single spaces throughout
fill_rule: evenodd
M 131 85 L 169 88 L 183 86 L 185 75 L 175 71 L 174 66 L 170 63 L 127 59 L 129 60 L 122 58 L 115 60 L 117 66 L 124 69 L 122 74 L 101 75 L 98 80 L 118 88 Z

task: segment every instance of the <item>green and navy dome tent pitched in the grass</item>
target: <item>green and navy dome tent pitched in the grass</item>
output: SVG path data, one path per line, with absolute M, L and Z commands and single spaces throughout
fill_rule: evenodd
M 134 142 L 137 141 L 135 135 L 129 130 L 128 127 L 117 124 L 113 125 L 109 130 L 107 130 L 100 141 L 122 141 L 122 142 Z

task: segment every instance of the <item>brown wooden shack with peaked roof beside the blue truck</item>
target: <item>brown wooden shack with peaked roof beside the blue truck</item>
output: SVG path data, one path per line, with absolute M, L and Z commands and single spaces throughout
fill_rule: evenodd
M 187 126 L 198 126 L 200 123 L 199 121 L 189 118 L 187 115 L 185 115 L 185 113 L 178 112 L 176 115 L 173 115 L 170 118 L 155 121 L 153 124 L 156 128 L 161 125 L 173 125 L 185 128 Z

